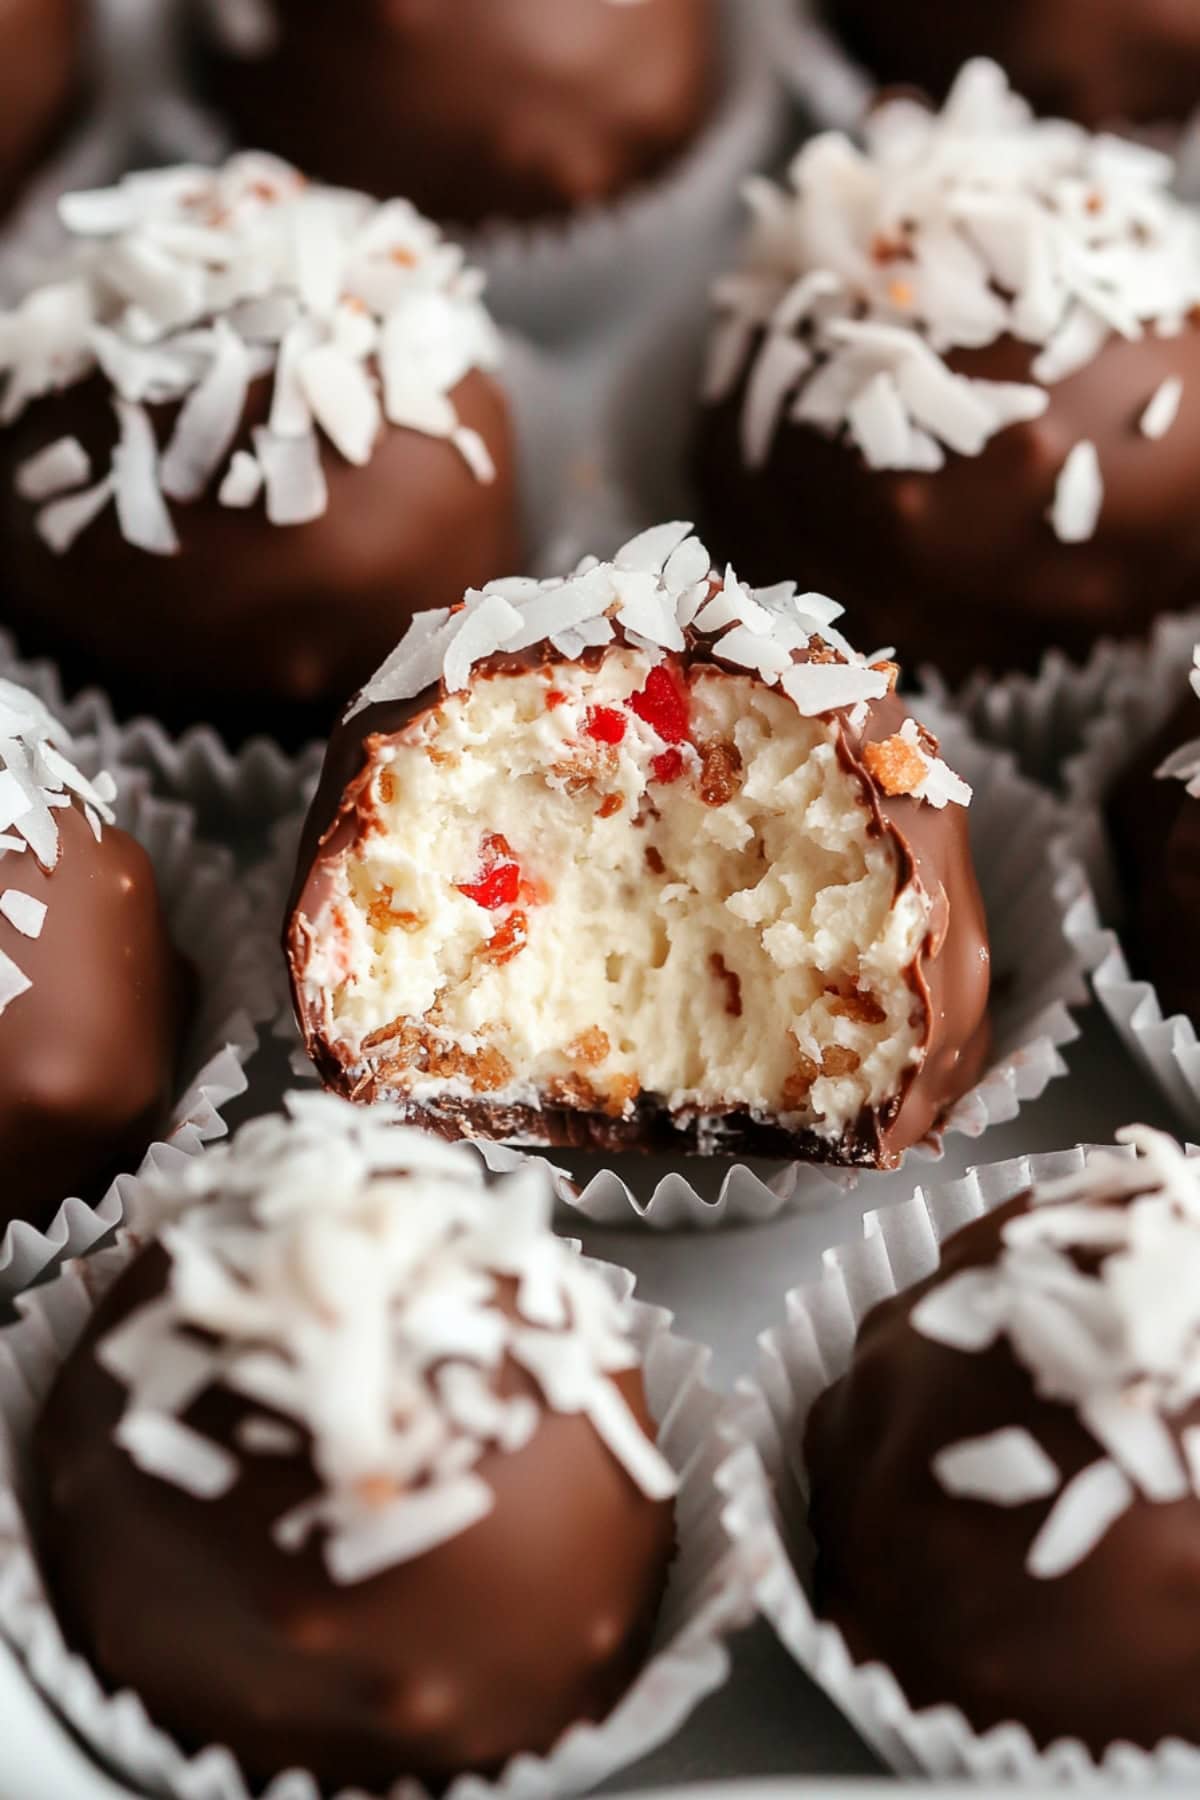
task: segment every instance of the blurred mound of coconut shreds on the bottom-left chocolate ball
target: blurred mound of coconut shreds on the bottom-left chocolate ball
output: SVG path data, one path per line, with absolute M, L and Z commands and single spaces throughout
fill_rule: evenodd
M 545 1168 L 489 1181 L 387 1105 L 286 1109 L 157 1184 L 167 1289 L 97 1346 L 128 1388 L 117 1442 L 139 1467 L 216 1498 L 243 1462 L 185 1424 L 193 1400 L 219 1384 L 281 1415 L 252 1413 L 237 1445 L 284 1454 L 299 1427 L 320 1492 L 273 1535 L 297 1550 L 320 1530 L 336 1582 L 482 1519 L 480 1458 L 522 1449 L 545 1411 L 585 1415 L 644 1494 L 669 1498 L 675 1474 L 610 1379 L 639 1363 L 628 1307 L 551 1231 Z M 538 1399 L 502 1391 L 506 1364 Z

